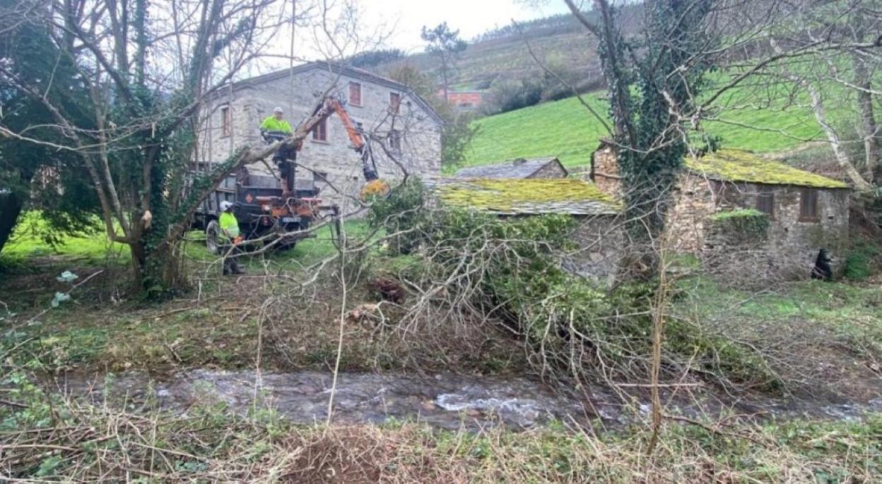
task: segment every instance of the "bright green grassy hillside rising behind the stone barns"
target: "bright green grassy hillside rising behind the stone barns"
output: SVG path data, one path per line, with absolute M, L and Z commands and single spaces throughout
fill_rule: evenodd
M 743 105 L 736 102 L 741 94 L 733 93 L 724 104 Z M 602 92 L 592 93 L 583 99 L 609 123 L 608 104 L 602 96 Z M 733 109 L 720 118 L 726 122 L 708 121 L 705 128 L 721 136 L 723 145 L 729 148 L 774 152 L 821 136 L 811 112 L 800 106 L 790 106 L 786 111 L 774 107 Z M 475 125 L 481 130 L 467 151 L 464 165 L 540 156 L 555 156 L 567 166 L 587 165 L 599 140 L 609 136 L 602 123 L 576 98 L 482 118 Z

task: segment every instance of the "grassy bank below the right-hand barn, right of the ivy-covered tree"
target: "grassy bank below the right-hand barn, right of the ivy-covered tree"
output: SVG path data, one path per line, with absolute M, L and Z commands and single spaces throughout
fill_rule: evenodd
M 787 392 L 818 401 L 878 397 L 878 284 L 804 281 L 759 291 L 727 288 L 704 277 L 679 284 L 682 297 L 672 315 L 692 321 L 699 331 L 757 348 Z

